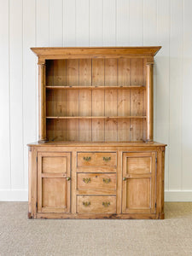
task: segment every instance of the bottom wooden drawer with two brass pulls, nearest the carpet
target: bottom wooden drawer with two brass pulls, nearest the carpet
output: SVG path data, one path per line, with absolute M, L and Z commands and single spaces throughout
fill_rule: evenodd
M 116 213 L 116 196 L 77 196 L 78 213 Z

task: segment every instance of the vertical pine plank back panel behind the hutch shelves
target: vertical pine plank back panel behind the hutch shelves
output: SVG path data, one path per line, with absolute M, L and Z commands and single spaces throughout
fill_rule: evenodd
M 146 115 L 145 90 L 135 87 L 113 89 L 113 86 L 145 86 L 146 61 L 142 58 L 46 61 L 46 85 L 67 85 L 66 89 L 47 88 L 47 118 L 64 118 L 47 120 L 48 139 L 81 142 L 145 140 L 146 119 L 129 118 Z M 81 87 L 71 89 L 68 86 Z M 98 89 L 95 86 L 112 88 Z M 98 119 L 91 119 L 91 116 L 98 116 Z

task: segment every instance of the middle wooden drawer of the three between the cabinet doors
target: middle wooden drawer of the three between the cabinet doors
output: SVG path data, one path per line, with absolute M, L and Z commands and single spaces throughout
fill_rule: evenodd
M 78 173 L 78 190 L 82 194 L 116 194 L 116 173 Z

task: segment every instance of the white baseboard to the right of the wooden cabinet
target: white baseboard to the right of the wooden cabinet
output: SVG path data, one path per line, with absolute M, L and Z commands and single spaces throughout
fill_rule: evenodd
M 165 201 L 192 201 L 192 190 L 165 191 Z

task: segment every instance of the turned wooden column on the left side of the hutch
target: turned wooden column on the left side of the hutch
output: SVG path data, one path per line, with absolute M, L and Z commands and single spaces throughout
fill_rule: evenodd
M 45 64 L 38 63 L 38 142 L 46 141 Z

